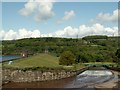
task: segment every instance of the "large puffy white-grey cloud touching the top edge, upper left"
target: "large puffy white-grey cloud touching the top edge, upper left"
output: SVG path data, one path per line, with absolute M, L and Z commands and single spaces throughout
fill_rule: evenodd
M 30 0 L 25 5 L 24 8 L 19 10 L 19 13 L 23 16 L 34 15 L 34 20 L 37 22 L 46 21 L 52 18 L 55 13 L 52 11 L 53 0 L 51 2 L 39 0 Z

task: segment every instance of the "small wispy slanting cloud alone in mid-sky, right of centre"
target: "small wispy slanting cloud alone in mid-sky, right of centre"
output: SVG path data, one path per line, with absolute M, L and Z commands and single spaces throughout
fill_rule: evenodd
M 64 13 L 64 17 L 62 17 L 60 20 L 58 20 L 58 24 L 59 23 L 63 23 L 64 21 L 68 21 L 70 19 L 72 19 L 75 16 L 75 12 L 73 10 L 71 11 L 66 11 Z

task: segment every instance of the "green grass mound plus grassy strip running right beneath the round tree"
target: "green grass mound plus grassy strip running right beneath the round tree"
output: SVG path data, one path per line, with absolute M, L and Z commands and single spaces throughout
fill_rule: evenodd
M 2 64 L 3 67 L 9 67 L 9 68 L 29 68 L 29 67 L 47 67 L 47 68 L 64 68 L 67 70 L 79 70 L 86 65 L 103 65 L 103 64 L 112 64 L 116 65 L 115 63 L 109 63 L 109 62 L 91 62 L 91 63 L 79 63 L 74 64 L 71 66 L 62 66 L 59 65 L 59 57 L 55 57 L 50 54 L 37 54 L 31 57 L 27 58 L 21 58 L 13 60 L 12 64 L 9 64 L 9 62 L 4 62 Z

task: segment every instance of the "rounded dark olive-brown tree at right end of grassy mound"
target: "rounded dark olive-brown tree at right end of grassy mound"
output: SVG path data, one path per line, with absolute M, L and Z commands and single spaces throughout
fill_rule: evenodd
M 75 63 L 75 58 L 71 51 L 65 51 L 61 54 L 59 59 L 60 65 L 72 65 L 74 63 Z

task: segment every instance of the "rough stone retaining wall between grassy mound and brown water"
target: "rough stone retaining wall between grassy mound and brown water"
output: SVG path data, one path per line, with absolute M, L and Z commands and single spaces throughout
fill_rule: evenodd
M 3 84 L 7 82 L 33 82 L 33 81 L 47 81 L 67 78 L 76 75 L 75 71 L 65 70 L 51 70 L 51 71 L 22 71 L 22 70 L 2 70 Z

